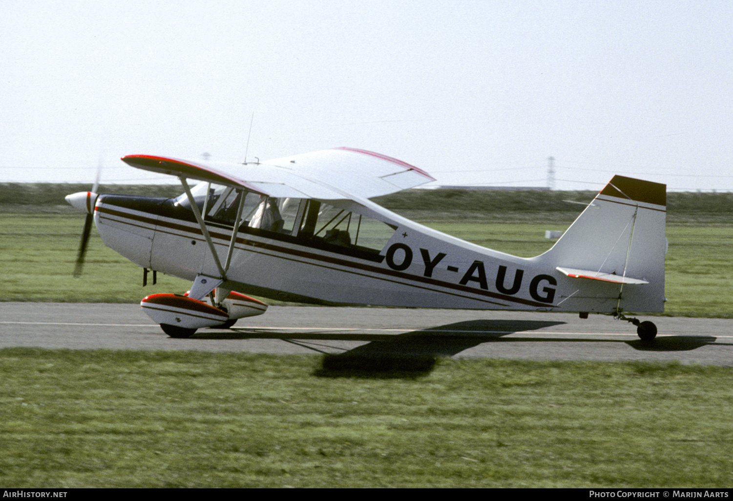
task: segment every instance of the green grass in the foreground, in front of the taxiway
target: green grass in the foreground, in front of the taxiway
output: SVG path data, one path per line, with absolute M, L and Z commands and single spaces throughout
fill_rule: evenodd
M 733 368 L 0 350 L 0 484 L 729 487 Z

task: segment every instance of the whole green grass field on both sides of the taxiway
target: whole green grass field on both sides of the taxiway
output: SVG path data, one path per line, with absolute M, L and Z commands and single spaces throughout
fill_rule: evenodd
M 549 212 L 494 201 L 460 216 L 445 193 L 430 211 L 423 196 L 399 212 L 520 256 L 545 251 L 545 230 L 580 212 L 556 193 Z M 471 196 L 467 207 L 490 202 Z M 730 197 L 702 198 L 715 210 L 670 217 L 666 314 L 731 318 Z M 96 231 L 72 278 L 83 220 L 53 205 L 0 207 L 0 299 L 137 303 L 188 289 L 164 275 L 143 288 L 140 269 Z M 29 348 L 0 349 L 0 360 L 10 489 L 733 483 L 729 367 L 440 359 L 397 372 L 334 369 L 314 355 Z

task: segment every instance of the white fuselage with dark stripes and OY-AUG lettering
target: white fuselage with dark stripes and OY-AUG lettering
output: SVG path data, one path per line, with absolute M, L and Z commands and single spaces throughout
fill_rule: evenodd
M 235 231 L 226 213 L 234 192 L 219 190 L 217 197 L 209 185 L 198 193 L 207 189 L 210 196 L 197 205 L 224 261 Z M 369 200 L 271 199 L 280 219 L 265 227 L 262 208 L 269 206 L 250 195 L 222 284 L 243 294 L 303 303 L 609 313 L 622 298 L 627 310 L 663 308 L 663 262 L 660 300 L 658 286 L 650 296 L 649 287 L 624 289 L 557 269 L 572 267 L 581 257 L 564 262 L 557 252 L 511 256 L 421 226 Z M 95 223 L 108 247 L 140 267 L 186 280 L 219 274 L 202 229 L 181 197 L 100 195 Z M 619 235 L 627 232 L 621 228 Z M 606 240 L 618 241 L 619 235 Z M 611 259 L 611 266 L 625 255 L 626 270 L 627 251 L 614 248 L 604 263 Z

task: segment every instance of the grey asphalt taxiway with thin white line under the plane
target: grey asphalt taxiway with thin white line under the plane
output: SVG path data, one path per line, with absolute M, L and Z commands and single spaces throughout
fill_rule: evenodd
M 231 330 L 169 338 L 139 305 L 0 303 L 0 347 L 433 355 L 531 360 L 679 360 L 733 365 L 733 320 L 649 317 L 659 334 L 571 313 L 271 306 Z

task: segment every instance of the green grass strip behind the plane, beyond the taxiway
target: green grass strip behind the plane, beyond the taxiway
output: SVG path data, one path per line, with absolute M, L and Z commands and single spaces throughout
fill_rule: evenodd
M 496 223 L 464 218 L 455 223 L 455 218 L 433 214 L 420 221 L 469 242 L 523 257 L 550 248 L 553 241 L 545 239 L 545 230 L 563 231 L 572 223 L 572 218 L 540 223 L 527 219 Z M 83 224 L 83 216 L 77 214 L 0 213 L 1 300 L 137 303 L 147 294 L 183 293 L 191 286 L 188 281 L 158 274 L 158 285 L 142 287 L 140 268 L 106 248 L 96 231 L 92 231 L 84 275 L 73 278 Z M 665 314 L 733 318 L 727 299 L 733 289 L 733 223 L 669 223 L 667 237 Z

